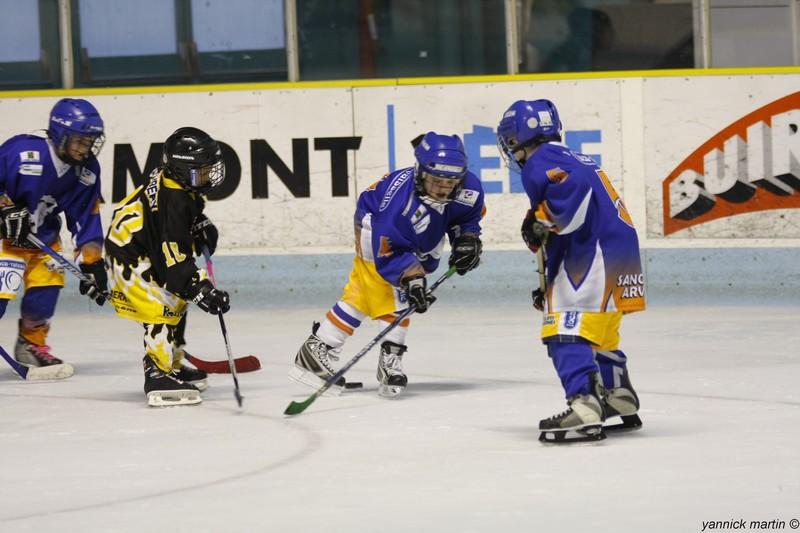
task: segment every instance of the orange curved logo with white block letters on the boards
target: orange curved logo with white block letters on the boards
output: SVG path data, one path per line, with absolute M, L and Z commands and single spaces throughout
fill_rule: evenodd
M 664 235 L 718 218 L 800 207 L 800 92 L 740 118 L 662 183 Z

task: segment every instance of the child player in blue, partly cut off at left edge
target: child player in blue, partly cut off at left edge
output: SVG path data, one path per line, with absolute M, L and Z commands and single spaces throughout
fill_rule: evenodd
M 61 213 L 75 241 L 79 266 L 94 283 L 80 283 L 103 305 L 100 164 L 103 120 L 86 100 L 63 98 L 50 112 L 46 135 L 17 135 L 0 146 L 0 317 L 25 285 L 14 358 L 31 368 L 28 379 L 63 379 L 72 365 L 50 351 L 47 334 L 64 286 L 63 270 L 28 240 L 35 235 L 60 250 Z

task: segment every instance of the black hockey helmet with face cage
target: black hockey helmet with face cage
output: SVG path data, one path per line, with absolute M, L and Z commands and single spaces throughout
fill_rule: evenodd
M 198 128 L 178 128 L 167 137 L 164 166 L 170 178 L 192 189 L 217 187 L 225 179 L 219 143 Z

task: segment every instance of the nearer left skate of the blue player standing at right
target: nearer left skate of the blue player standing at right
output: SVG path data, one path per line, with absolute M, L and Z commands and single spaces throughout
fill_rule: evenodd
M 569 409 L 539 422 L 539 440 L 568 443 L 597 441 L 606 438 L 603 432 L 603 405 L 594 394 L 570 398 Z

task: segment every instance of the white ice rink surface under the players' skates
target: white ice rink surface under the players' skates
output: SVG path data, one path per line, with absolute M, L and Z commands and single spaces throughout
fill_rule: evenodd
M 537 440 L 565 404 L 527 305 L 437 304 L 412 320 L 400 399 L 376 396 L 373 352 L 348 375 L 363 391 L 284 417 L 313 392 L 286 374 L 325 311 L 226 315 L 235 354 L 263 364 L 240 375 L 241 410 L 228 375 L 211 376 L 200 406 L 148 408 L 138 326 L 61 312 L 50 340 L 73 378 L 25 383 L 0 361 L 0 531 L 682 532 L 800 518 L 798 307 L 628 317 L 644 428 L 571 446 Z M 376 332 L 365 324 L 344 360 Z M 188 335 L 190 352 L 225 358 L 214 317 L 192 311 Z

